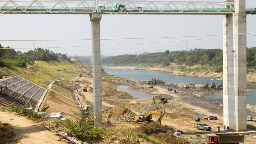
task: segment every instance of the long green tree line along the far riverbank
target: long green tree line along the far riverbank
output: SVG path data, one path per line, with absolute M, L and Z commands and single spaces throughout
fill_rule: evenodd
M 107 66 L 168 66 L 170 63 L 178 65 L 199 65 L 216 72 L 223 71 L 223 50 L 221 49 L 194 49 L 190 51 L 172 51 L 143 54 L 124 54 L 110 56 L 101 60 Z M 184 68 L 184 67 L 180 67 Z M 256 70 L 256 47 L 247 48 L 247 69 Z

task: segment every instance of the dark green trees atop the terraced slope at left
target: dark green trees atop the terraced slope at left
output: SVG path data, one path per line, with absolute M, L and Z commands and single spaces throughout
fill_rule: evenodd
M 68 60 L 65 54 L 54 53 L 47 49 L 35 48 L 34 50 L 29 50 L 28 52 L 17 51 L 8 47 L 2 47 L 0 44 L 0 67 L 8 66 L 18 66 L 26 67 L 26 65 L 34 64 L 34 60 Z

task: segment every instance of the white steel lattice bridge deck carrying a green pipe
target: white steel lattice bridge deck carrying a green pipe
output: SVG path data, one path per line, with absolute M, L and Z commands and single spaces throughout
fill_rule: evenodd
M 228 9 L 227 9 L 228 7 Z M 7 11 L 7 12 L 6 12 Z M 231 14 L 234 2 L 0 0 L 4 14 Z M 247 10 L 256 12 L 255 8 Z

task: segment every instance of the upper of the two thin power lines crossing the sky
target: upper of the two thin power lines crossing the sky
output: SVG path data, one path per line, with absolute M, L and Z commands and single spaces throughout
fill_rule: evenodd
M 236 34 L 255 34 L 256 32 L 236 33 Z M 100 39 L 52 39 L 52 40 L 0 40 L 0 41 L 69 41 L 69 40 L 132 40 L 132 39 L 152 39 L 152 38 L 186 38 L 186 37 L 202 37 L 202 36 L 224 36 L 234 34 L 212 34 L 198 36 L 166 36 L 166 37 L 142 37 L 142 38 L 100 38 Z

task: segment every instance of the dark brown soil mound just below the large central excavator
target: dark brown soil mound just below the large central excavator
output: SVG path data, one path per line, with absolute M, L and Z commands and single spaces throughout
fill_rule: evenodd
M 143 132 L 147 135 L 166 133 L 168 130 L 172 132 L 175 131 L 172 126 L 161 125 L 155 122 L 150 122 L 149 124 L 141 125 L 140 127 L 137 128 L 137 130 L 138 132 Z

